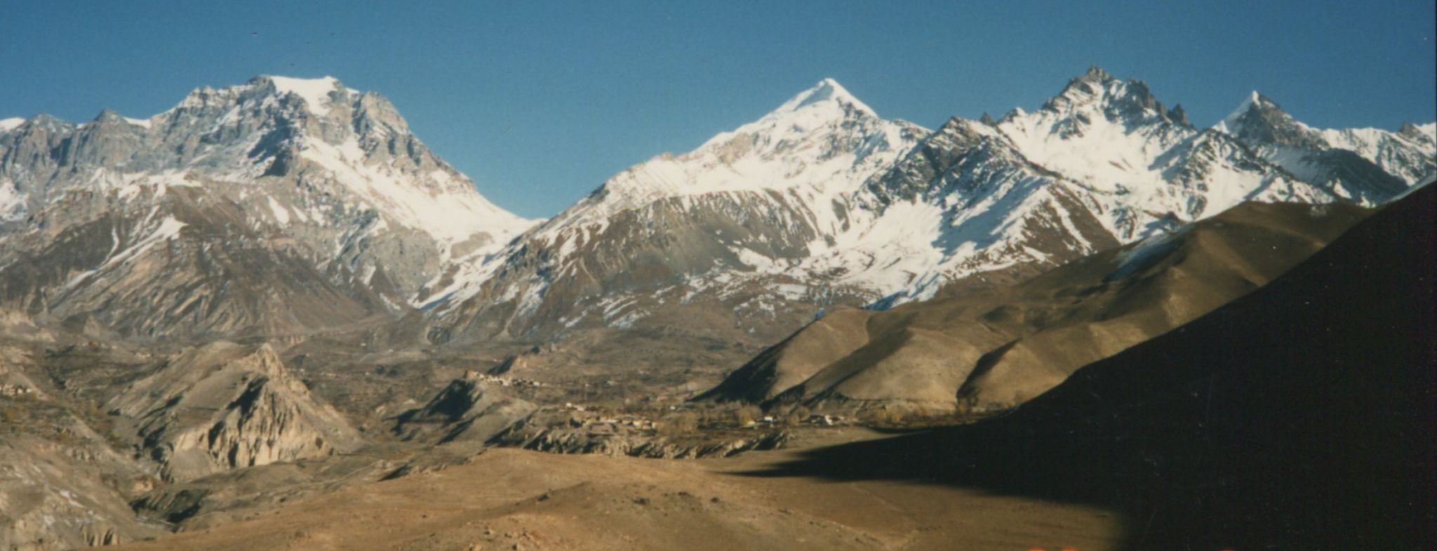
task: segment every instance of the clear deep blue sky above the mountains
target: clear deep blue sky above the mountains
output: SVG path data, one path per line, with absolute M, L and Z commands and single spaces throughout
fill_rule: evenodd
M 389 96 L 500 206 L 552 216 L 823 76 L 927 127 L 1036 108 L 1089 65 L 1198 125 L 1252 89 L 1319 127 L 1433 121 L 1433 22 L 1431 0 L 3 0 L 0 118 L 148 117 L 203 85 L 333 75 Z

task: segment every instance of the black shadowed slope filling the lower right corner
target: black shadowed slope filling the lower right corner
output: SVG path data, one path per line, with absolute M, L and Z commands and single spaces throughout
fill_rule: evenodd
M 1111 506 L 1134 550 L 1437 548 L 1434 204 L 1427 186 L 1009 416 L 749 475 Z

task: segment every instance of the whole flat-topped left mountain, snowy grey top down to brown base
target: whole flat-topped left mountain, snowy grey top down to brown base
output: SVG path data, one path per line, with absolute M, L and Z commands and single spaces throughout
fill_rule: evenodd
M 394 315 L 522 232 L 378 94 L 260 76 L 148 119 L 0 125 L 0 304 L 119 337 Z

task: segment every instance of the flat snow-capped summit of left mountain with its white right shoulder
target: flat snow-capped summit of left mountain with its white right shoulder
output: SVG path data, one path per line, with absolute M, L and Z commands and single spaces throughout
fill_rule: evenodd
M 410 132 L 382 95 L 345 88 L 333 76 L 262 75 L 243 85 L 201 88 L 151 121 L 164 134 L 227 137 L 201 140 L 194 161 L 171 170 L 216 180 L 323 177 L 356 193 L 388 222 L 424 232 L 445 247 L 476 234 L 487 234 L 494 247 L 535 223 L 476 193 L 473 181 Z M 207 147 L 207 141 L 220 145 Z

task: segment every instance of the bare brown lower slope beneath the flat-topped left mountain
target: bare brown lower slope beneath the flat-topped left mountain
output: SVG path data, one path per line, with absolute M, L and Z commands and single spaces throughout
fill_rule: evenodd
M 42 216 L 63 224 L 0 249 L 0 304 L 39 325 L 139 341 L 309 334 L 389 317 L 372 289 L 316 269 L 305 245 L 207 193 L 178 187 L 129 207 L 88 193 L 56 201 Z

